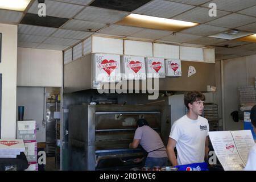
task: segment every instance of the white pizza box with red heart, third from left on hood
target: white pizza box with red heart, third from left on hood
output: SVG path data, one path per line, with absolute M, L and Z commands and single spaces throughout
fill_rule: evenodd
M 148 78 L 164 78 L 166 77 L 165 65 L 163 58 L 147 57 L 146 69 Z

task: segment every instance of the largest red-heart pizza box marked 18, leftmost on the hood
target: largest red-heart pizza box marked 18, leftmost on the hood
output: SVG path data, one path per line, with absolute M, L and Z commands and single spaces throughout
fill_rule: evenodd
M 94 80 L 97 82 L 121 81 L 120 55 L 96 53 L 94 61 Z

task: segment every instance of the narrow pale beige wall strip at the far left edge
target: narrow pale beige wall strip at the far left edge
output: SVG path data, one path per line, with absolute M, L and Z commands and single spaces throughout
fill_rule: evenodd
M 16 128 L 16 70 L 17 70 L 16 25 L 0 24 L 2 33 L 2 125 L 1 138 L 15 138 Z

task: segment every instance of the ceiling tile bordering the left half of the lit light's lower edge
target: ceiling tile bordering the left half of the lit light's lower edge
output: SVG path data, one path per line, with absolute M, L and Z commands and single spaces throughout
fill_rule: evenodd
M 102 30 L 100 30 L 98 32 L 102 33 L 102 34 L 129 36 L 131 34 L 134 34 L 135 32 L 141 31 L 141 30 L 143 30 L 143 28 L 111 25 L 109 27 L 103 28 Z

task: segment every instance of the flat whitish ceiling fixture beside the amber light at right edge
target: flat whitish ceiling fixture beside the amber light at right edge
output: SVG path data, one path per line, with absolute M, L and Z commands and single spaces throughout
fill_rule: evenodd
M 229 31 L 222 32 L 220 34 L 209 35 L 209 37 L 210 38 L 233 40 L 233 39 L 242 38 L 244 36 L 252 35 L 252 34 L 254 34 L 254 33 L 246 32 L 246 31 L 240 31 L 240 30 L 229 30 Z

